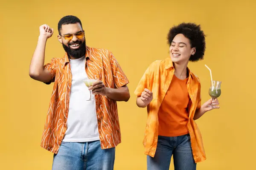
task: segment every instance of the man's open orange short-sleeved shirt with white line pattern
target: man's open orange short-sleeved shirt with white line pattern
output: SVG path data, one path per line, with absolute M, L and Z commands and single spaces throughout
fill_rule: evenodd
M 111 51 L 88 46 L 86 49 L 85 71 L 90 79 L 99 79 L 108 88 L 120 88 L 129 83 Z M 51 72 L 51 82 L 54 82 L 54 85 L 41 147 L 57 154 L 67 130 L 72 82 L 67 53 L 63 58 L 52 58 L 50 63 L 44 65 L 44 68 Z M 95 95 L 95 98 L 101 148 L 115 147 L 121 142 L 116 101 L 102 95 Z

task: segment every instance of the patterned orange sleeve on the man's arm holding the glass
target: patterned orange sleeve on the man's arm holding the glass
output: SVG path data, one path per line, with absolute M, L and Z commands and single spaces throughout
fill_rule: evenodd
M 113 80 L 115 84 L 115 88 L 120 88 L 129 83 L 129 80 L 125 76 L 125 73 L 122 71 L 121 66 L 117 62 L 116 58 L 110 52 L 110 63 L 111 63 L 111 71 L 113 73 Z

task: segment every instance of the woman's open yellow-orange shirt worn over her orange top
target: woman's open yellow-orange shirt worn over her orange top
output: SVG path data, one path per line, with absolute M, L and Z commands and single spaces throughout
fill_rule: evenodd
M 134 91 L 134 94 L 140 96 L 144 88 L 148 88 L 153 92 L 153 100 L 147 106 L 148 120 L 145 128 L 145 136 L 143 144 L 145 154 L 154 157 L 157 149 L 158 138 L 158 111 L 163 102 L 164 96 L 169 89 L 172 77 L 174 75 L 174 67 L 170 57 L 164 60 L 153 62 L 145 71 L 143 77 Z M 206 159 L 203 141 L 200 130 L 194 121 L 196 109 L 201 107 L 201 84 L 195 74 L 189 70 L 189 79 L 187 82 L 187 90 L 191 102 L 188 105 L 189 121 L 187 128 L 191 137 L 191 146 L 195 162 L 204 161 Z

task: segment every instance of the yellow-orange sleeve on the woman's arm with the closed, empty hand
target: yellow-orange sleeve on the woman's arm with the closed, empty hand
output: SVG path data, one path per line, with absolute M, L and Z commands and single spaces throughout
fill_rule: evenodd
M 143 74 L 143 77 L 140 79 L 139 84 L 137 85 L 137 88 L 134 91 L 134 94 L 137 96 L 140 96 L 141 93 L 144 91 L 145 88 L 150 90 L 150 79 L 151 79 L 151 67 L 149 66 L 145 73 Z

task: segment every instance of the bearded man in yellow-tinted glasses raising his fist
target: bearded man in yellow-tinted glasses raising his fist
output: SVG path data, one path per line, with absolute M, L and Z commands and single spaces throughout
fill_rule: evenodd
M 65 16 L 58 40 L 66 51 L 44 65 L 53 29 L 39 27 L 38 45 L 29 76 L 54 82 L 41 147 L 54 153 L 53 170 L 113 170 L 115 147 L 121 142 L 116 101 L 128 101 L 128 79 L 113 54 L 86 45 L 81 21 Z M 89 88 L 85 79 L 97 79 Z M 95 100 L 90 98 L 90 90 Z

